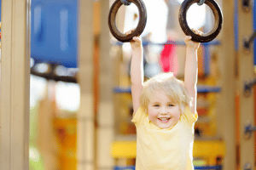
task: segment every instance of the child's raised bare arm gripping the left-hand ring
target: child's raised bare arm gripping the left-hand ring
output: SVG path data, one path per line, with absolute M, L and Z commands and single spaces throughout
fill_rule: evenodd
M 133 37 L 131 40 L 131 96 L 134 113 L 140 106 L 140 95 L 143 91 L 143 45 L 140 37 Z

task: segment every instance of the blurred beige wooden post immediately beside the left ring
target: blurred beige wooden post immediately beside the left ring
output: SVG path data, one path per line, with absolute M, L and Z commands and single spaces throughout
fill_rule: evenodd
M 101 1 L 100 100 L 97 113 L 97 169 L 113 169 L 110 146 L 113 142 L 113 63 L 109 55 L 109 0 Z

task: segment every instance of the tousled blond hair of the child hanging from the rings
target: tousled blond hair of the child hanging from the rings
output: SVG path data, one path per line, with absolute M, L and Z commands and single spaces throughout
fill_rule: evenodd
M 165 93 L 172 102 L 178 104 L 181 113 L 183 113 L 186 106 L 189 106 L 191 98 L 189 98 L 183 81 L 174 77 L 172 72 L 160 73 L 157 76 L 151 77 L 143 84 L 140 105 L 145 112 L 148 112 L 147 108 L 150 97 L 157 91 Z

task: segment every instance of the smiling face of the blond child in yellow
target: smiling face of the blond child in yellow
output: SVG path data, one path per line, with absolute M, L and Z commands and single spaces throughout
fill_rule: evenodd
M 148 119 L 155 126 L 170 128 L 176 125 L 180 117 L 180 108 L 161 91 L 157 91 L 149 99 Z

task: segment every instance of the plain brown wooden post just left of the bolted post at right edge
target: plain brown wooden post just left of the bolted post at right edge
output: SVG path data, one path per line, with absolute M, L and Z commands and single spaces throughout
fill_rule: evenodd
M 224 170 L 236 169 L 236 123 L 235 123 L 235 37 L 234 0 L 224 0 L 223 28 L 220 37 L 218 65 L 221 93 L 218 100 L 218 132 L 224 139 L 226 155 Z

